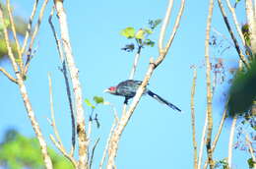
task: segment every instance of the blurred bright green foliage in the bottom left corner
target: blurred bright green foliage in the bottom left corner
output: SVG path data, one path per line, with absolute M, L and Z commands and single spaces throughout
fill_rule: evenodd
M 63 156 L 48 148 L 54 169 L 72 169 L 72 164 Z M 44 168 L 40 146 L 35 138 L 22 136 L 15 130 L 6 132 L 0 144 L 0 166 L 10 169 Z

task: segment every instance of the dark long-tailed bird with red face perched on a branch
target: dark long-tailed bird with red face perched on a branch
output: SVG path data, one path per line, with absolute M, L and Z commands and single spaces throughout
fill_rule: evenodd
M 104 90 L 104 92 L 108 92 L 113 95 L 119 95 L 125 97 L 125 103 L 128 103 L 130 98 L 133 98 L 136 94 L 138 87 L 142 84 L 142 81 L 135 81 L 135 80 L 126 80 L 123 81 L 116 86 L 110 86 Z M 144 93 L 152 96 L 153 98 L 157 99 L 160 103 L 167 105 L 168 107 L 172 108 L 173 110 L 181 112 L 181 110 L 175 106 L 174 104 L 170 103 L 169 101 L 160 97 L 160 95 L 156 94 L 155 92 L 151 91 L 149 88 L 146 87 Z

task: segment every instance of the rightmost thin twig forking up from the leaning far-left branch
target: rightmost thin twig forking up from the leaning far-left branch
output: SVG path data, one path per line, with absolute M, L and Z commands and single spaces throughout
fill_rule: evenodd
M 32 46 L 33 46 L 33 42 L 34 42 L 34 39 L 35 39 L 35 36 L 37 35 L 37 32 L 40 28 L 40 24 L 41 24 L 41 20 L 42 20 L 42 17 L 43 17 L 43 14 L 44 14 L 44 10 L 45 10 L 45 7 L 47 5 L 49 0 L 44 0 L 42 6 L 41 6 L 41 9 L 40 9 L 40 13 L 39 13 L 39 17 L 38 17 L 38 20 L 37 20 L 37 23 L 35 25 L 35 28 L 32 32 L 32 39 L 31 39 L 31 42 L 30 42 L 30 46 L 29 46 L 29 50 L 28 50 L 28 54 L 27 54 L 27 60 L 26 60 L 26 63 L 25 63 L 25 69 L 24 69 L 24 74 L 26 75 L 27 72 L 28 72 L 28 69 L 29 69 L 29 66 L 30 66 L 30 63 L 31 63 L 31 60 L 32 60 Z

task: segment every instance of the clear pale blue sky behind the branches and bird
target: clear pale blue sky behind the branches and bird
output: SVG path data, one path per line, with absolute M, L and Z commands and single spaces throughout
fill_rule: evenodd
M 12 2 L 14 2 L 13 5 L 18 14 L 27 18 L 30 16 L 32 1 Z M 130 41 L 121 36 L 119 32 L 126 27 L 144 28 L 149 20 L 161 19 L 165 13 L 167 0 L 130 0 L 125 2 L 66 0 L 64 3 L 68 15 L 73 54 L 80 71 L 83 96 L 89 99 L 93 99 L 94 95 L 103 96 L 105 100 L 116 106 L 120 115 L 123 98 L 102 93 L 106 87 L 128 79 L 131 71 L 134 53 L 126 53 L 120 50 Z M 215 5 L 213 27 L 229 39 L 216 2 Z M 52 1 L 47 6 L 41 28 L 35 40 L 34 46 L 37 46 L 37 50 L 32 59 L 26 84 L 31 97 L 32 108 L 42 129 L 43 136 L 49 145 L 53 146 L 48 137 L 53 131 L 47 122 L 47 118 L 50 117 L 47 74 L 51 74 L 57 127 L 65 145 L 70 147 L 71 121 L 65 85 L 62 74 L 58 69 L 61 65 L 56 44 L 47 23 L 51 6 Z M 175 1 L 172 17 L 176 14 L 178 8 L 179 1 Z M 241 6 L 239 8 L 242 9 Z M 196 133 L 199 143 L 206 112 L 204 40 L 207 15 L 208 1 L 186 2 L 181 25 L 173 44 L 166 59 L 155 71 L 149 85 L 149 88 L 160 96 L 180 107 L 183 113 L 178 114 L 151 97 L 143 97 L 120 141 L 116 158 L 118 168 L 192 168 L 190 89 L 193 71 L 190 66 L 197 65 L 200 67 L 198 69 L 195 98 Z M 238 15 L 239 23 L 245 23 L 242 10 L 238 11 Z M 53 20 L 58 29 L 56 18 Z M 173 25 L 173 18 L 170 25 Z M 154 33 L 152 39 L 158 39 L 159 29 Z M 169 27 L 168 33 L 170 30 Z M 215 57 L 220 57 L 220 53 L 215 51 L 212 51 L 212 53 L 216 54 Z M 157 46 L 143 49 L 135 79 L 143 79 L 150 57 L 156 58 L 157 56 Z M 232 47 L 224 53 L 224 56 L 232 58 L 234 61 L 237 59 Z M 11 70 L 6 63 L 0 64 Z M 233 65 L 235 64 L 234 62 Z M 12 127 L 26 136 L 34 136 L 18 86 L 9 82 L 2 75 L 0 76 L 0 82 L 1 137 L 6 129 Z M 222 91 L 226 89 L 225 86 L 220 85 L 218 92 L 214 95 L 214 134 L 219 126 L 224 107 Z M 88 122 L 91 109 L 85 105 L 85 110 Z M 94 128 L 93 131 L 94 141 L 97 137 L 100 137 L 96 148 L 94 168 L 97 168 L 99 164 L 102 149 L 113 122 L 110 107 L 98 106 L 96 112 L 101 126 L 99 129 Z M 230 122 L 227 122 L 214 155 L 215 159 L 223 159 L 227 156 L 229 127 Z M 234 150 L 234 168 L 247 168 L 246 159 L 248 156 L 243 154 L 239 150 Z

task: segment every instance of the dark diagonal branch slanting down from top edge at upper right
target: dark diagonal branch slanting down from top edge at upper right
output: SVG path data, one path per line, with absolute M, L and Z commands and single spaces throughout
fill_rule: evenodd
M 222 0 L 218 0 L 218 4 L 219 4 L 219 8 L 221 9 L 221 12 L 222 12 L 222 15 L 223 15 L 223 18 L 224 18 L 224 24 L 233 40 L 233 43 L 234 43 L 234 47 L 235 47 L 235 50 L 236 52 L 238 53 L 239 55 L 239 58 L 240 60 L 243 62 L 243 64 L 248 68 L 248 63 L 247 63 L 247 60 L 245 59 L 244 55 L 242 54 L 242 51 L 239 47 L 239 44 L 238 44 L 238 41 L 236 40 L 235 36 L 234 36 L 234 33 L 229 25 L 229 22 L 227 20 L 227 17 L 225 15 L 225 12 L 224 12 L 224 5 L 223 5 L 223 2 Z

